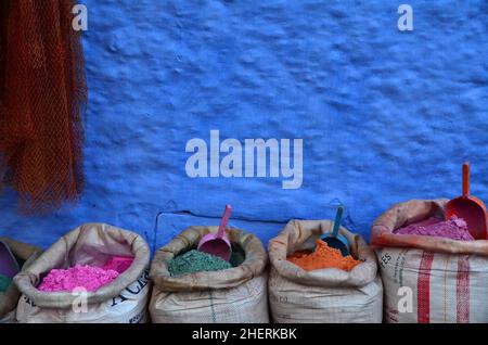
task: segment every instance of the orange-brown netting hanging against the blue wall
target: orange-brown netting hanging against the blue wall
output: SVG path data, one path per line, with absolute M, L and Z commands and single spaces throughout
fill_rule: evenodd
M 82 189 L 87 101 L 72 0 L 0 0 L 0 183 L 42 213 Z

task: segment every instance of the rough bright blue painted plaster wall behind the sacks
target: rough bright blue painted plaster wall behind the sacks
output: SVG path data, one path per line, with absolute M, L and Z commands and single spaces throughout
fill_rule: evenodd
M 396 202 L 459 194 L 464 159 L 488 202 L 487 1 L 402 1 L 412 33 L 397 29 L 400 1 L 82 2 L 85 194 L 23 217 L 9 193 L 3 234 L 47 246 L 104 221 L 159 246 L 188 225 L 217 223 L 231 203 L 233 225 L 266 242 L 280 222 L 330 218 L 341 201 L 346 223 L 369 238 Z M 188 178 L 185 143 L 210 129 L 303 138 L 301 189 Z

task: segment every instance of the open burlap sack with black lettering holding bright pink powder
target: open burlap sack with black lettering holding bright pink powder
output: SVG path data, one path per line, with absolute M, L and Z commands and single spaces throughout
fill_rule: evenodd
M 51 269 L 102 267 L 113 257 L 133 257 L 133 261 L 115 280 L 93 292 L 37 289 Z M 16 318 L 23 323 L 147 322 L 149 264 L 150 248 L 139 234 L 104 223 L 82 225 L 14 278 L 23 294 Z

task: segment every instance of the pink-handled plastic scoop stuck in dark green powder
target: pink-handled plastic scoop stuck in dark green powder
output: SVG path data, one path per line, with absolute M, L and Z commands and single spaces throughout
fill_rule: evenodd
M 219 230 L 217 233 L 207 233 L 200 240 L 198 251 L 219 256 L 226 261 L 229 261 L 232 254 L 232 246 L 229 239 L 226 237 L 226 228 L 229 222 L 229 217 L 232 207 L 226 205 L 222 219 L 220 220 Z

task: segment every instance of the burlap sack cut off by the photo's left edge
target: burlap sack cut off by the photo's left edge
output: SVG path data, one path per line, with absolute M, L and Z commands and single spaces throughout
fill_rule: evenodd
M 0 237 L 0 241 L 9 246 L 22 270 L 25 270 L 42 252 L 35 245 L 16 242 L 9 238 Z M 5 292 L 0 293 L 0 323 L 14 323 L 16 321 L 15 309 L 20 296 L 21 292 L 13 281 Z

